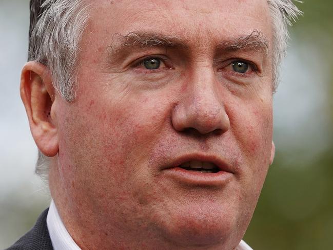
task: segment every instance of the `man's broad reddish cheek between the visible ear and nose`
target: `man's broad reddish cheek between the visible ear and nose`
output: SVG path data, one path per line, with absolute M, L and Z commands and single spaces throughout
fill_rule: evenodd
M 166 108 L 156 103 L 145 97 L 113 102 L 89 100 L 66 114 L 61 148 L 69 150 L 74 156 L 71 161 L 80 164 L 84 161 L 85 165 L 102 168 L 139 164 L 168 117 Z

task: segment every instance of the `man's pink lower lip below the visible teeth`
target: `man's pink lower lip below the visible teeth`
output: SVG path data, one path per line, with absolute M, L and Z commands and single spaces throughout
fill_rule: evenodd
M 226 171 L 205 173 L 195 170 L 186 170 L 181 167 L 164 169 L 164 174 L 182 183 L 212 186 L 225 185 L 233 176 L 231 172 Z

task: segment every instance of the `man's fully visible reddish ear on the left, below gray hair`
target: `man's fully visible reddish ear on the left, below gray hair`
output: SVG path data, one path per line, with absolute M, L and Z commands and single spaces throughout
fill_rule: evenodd
M 26 63 L 21 73 L 20 92 L 38 149 L 48 157 L 55 156 L 58 152 L 55 113 L 52 110 L 55 89 L 47 67 L 37 62 Z

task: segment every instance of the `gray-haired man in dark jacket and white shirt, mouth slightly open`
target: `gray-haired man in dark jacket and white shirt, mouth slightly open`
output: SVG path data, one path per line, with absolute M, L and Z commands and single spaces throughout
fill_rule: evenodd
M 9 249 L 251 249 L 290 0 L 31 1 L 52 202 Z

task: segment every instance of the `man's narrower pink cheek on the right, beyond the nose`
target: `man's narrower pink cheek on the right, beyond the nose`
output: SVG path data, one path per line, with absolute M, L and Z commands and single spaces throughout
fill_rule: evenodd
M 232 133 L 238 142 L 248 180 L 261 187 L 269 165 L 272 145 L 271 103 L 250 102 L 229 110 Z M 259 189 L 259 188 L 258 188 Z

